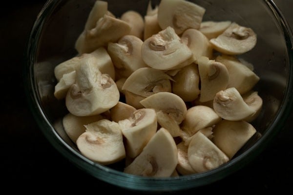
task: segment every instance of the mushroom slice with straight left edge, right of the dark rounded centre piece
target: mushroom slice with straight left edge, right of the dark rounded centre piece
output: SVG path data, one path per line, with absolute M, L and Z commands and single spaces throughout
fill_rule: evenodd
M 227 88 L 229 73 L 221 62 L 202 56 L 198 59 L 198 70 L 201 80 L 199 101 L 212 100 L 218 91 Z

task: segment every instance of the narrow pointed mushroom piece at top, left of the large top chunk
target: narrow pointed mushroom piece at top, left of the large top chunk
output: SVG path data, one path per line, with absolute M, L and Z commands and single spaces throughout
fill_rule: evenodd
M 162 30 L 158 22 L 158 6 L 154 9 L 151 7 L 151 1 L 148 2 L 146 16 L 145 19 L 145 27 L 144 27 L 144 39 L 151 37 L 152 35 L 157 34 Z

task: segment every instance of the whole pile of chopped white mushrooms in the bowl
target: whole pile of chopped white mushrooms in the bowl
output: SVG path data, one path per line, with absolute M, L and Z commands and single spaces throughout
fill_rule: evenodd
M 253 49 L 256 34 L 202 21 L 205 12 L 161 0 L 145 16 L 118 18 L 95 2 L 78 55 L 55 67 L 63 128 L 82 155 L 103 165 L 124 160 L 127 174 L 189 175 L 227 163 L 256 133 L 259 77 L 237 56 Z

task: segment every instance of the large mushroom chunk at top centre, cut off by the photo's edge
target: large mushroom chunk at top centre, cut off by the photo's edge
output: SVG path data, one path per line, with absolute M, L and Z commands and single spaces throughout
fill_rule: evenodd
M 199 29 L 206 9 L 187 0 L 161 0 L 158 22 L 162 29 L 171 26 L 180 35 L 188 28 Z

